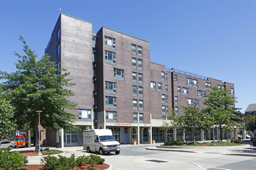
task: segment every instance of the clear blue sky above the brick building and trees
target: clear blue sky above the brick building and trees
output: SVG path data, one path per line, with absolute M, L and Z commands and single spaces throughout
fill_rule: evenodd
M 0 2 L 0 70 L 15 71 L 22 35 L 39 57 L 61 12 L 150 42 L 150 60 L 235 84 L 236 107 L 256 103 L 256 1 L 12 0 Z

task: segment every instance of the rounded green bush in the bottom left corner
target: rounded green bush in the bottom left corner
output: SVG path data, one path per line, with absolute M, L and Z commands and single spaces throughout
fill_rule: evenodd
M 0 148 L 0 168 L 6 168 L 8 170 L 22 170 L 23 166 L 28 163 L 26 156 L 20 155 L 19 152 L 9 151 L 11 148 Z

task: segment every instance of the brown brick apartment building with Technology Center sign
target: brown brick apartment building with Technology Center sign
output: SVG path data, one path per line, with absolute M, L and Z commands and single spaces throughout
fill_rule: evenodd
M 121 144 L 163 142 L 181 139 L 176 129 L 159 130 L 169 121 L 171 108 L 202 101 L 207 89 L 221 86 L 223 81 L 203 77 L 150 62 L 149 42 L 102 27 L 92 31 L 92 23 L 63 13 L 60 14 L 45 52 L 59 68 L 70 72 L 76 86 L 69 87 L 76 96 L 69 100 L 78 103 L 78 132 L 46 129 L 48 145 L 83 145 L 83 130 L 108 128 Z M 234 84 L 224 82 L 232 90 Z M 217 137 L 217 130 L 215 132 Z M 198 132 L 198 140 L 211 140 L 212 130 Z M 186 136 L 191 136 L 186 132 Z M 234 137 L 224 132 L 223 139 Z

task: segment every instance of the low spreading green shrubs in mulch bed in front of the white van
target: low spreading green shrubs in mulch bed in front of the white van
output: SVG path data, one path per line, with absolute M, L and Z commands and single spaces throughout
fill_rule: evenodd
M 82 155 L 75 158 L 75 155 L 72 154 L 71 157 L 68 158 L 61 155 L 58 155 L 58 158 L 48 155 L 43 157 L 40 163 L 45 164 L 43 168 L 47 170 L 67 170 L 84 164 L 90 164 L 89 167 L 93 168 L 97 164 L 103 164 L 104 161 L 105 159 L 98 155 Z

